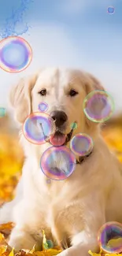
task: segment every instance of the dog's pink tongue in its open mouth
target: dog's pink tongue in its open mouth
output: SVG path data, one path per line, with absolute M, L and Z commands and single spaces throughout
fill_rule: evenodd
M 50 143 L 53 146 L 62 146 L 65 143 L 66 135 L 51 135 L 50 136 Z

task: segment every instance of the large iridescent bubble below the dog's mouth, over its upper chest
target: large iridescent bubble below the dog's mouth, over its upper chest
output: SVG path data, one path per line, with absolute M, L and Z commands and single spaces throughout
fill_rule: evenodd
M 76 168 L 76 157 L 67 147 L 50 147 L 42 155 L 40 166 L 51 180 L 65 180 Z

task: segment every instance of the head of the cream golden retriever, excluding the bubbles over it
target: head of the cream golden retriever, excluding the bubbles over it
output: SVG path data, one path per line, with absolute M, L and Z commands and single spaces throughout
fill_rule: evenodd
M 13 87 L 10 102 L 20 124 L 32 112 L 38 112 L 40 102 L 48 104 L 46 113 L 56 127 L 54 136 L 66 135 L 67 141 L 76 133 L 85 132 L 94 139 L 98 124 L 87 119 L 83 100 L 91 91 L 104 90 L 101 83 L 87 72 L 71 69 L 42 69 Z M 77 128 L 71 132 L 71 124 Z

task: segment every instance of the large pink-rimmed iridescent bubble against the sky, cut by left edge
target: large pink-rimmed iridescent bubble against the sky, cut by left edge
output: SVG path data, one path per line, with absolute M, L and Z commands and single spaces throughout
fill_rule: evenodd
M 29 43 L 19 36 L 9 36 L 0 41 L 0 68 L 6 72 L 21 72 L 32 59 Z

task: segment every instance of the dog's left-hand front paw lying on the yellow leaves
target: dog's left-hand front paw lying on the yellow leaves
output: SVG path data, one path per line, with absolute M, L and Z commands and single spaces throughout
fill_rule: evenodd
M 9 238 L 9 246 L 15 251 L 21 249 L 31 250 L 35 245 L 35 239 L 28 233 L 20 229 L 13 228 L 13 232 Z

